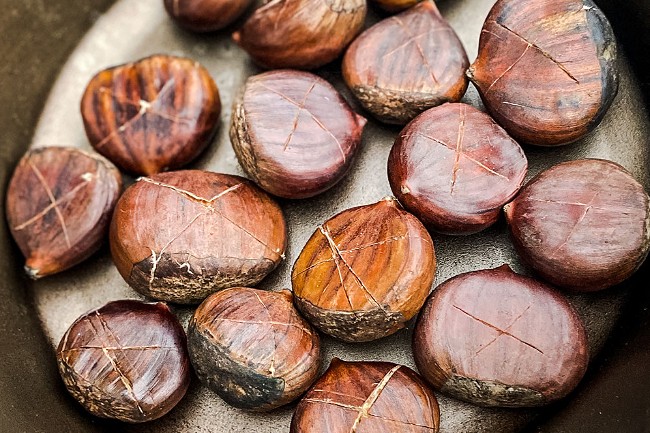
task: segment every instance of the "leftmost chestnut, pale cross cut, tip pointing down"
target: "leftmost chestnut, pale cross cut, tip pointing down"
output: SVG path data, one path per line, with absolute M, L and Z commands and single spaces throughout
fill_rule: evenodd
M 66 270 L 104 242 L 122 189 L 117 169 L 71 147 L 28 151 L 7 190 L 7 222 L 34 279 Z

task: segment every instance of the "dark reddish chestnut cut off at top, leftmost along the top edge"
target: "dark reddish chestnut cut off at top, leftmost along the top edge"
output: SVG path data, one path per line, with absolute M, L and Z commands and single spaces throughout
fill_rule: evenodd
M 164 0 L 165 10 L 193 32 L 220 30 L 239 18 L 252 0 Z

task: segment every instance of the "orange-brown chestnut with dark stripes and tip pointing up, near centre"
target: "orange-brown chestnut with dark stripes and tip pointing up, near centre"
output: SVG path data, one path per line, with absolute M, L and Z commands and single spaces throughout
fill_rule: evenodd
M 391 197 L 318 226 L 291 282 L 296 306 L 314 326 L 357 342 L 403 328 L 422 307 L 435 272 L 431 236 Z

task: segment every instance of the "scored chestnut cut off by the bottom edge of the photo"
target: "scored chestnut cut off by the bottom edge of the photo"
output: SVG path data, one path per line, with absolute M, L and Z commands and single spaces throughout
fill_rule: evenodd
M 438 401 L 410 368 L 334 358 L 298 404 L 290 433 L 437 433 L 439 426 Z

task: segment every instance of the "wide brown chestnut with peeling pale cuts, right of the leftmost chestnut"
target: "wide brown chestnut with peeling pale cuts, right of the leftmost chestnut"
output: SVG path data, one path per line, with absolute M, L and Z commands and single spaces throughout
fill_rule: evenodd
M 192 304 L 255 285 L 284 258 L 280 207 L 248 180 L 201 170 L 143 177 L 115 208 L 113 261 L 131 287 Z

